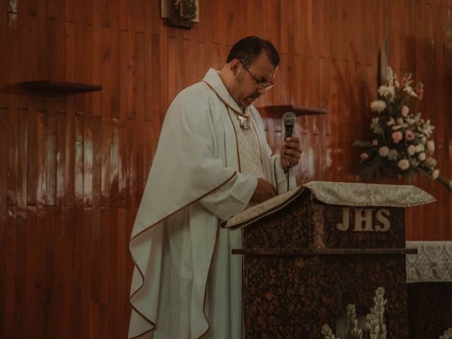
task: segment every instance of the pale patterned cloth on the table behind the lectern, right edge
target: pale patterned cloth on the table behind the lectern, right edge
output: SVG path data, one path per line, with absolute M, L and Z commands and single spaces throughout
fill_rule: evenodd
M 452 242 L 406 242 L 407 283 L 452 282 Z

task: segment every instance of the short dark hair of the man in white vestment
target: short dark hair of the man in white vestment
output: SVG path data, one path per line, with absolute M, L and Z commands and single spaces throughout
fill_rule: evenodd
M 229 63 L 234 59 L 239 59 L 245 66 L 250 66 L 263 51 L 267 53 L 268 59 L 273 66 L 276 67 L 280 64 L 280 55 L 273 44 L 256 36 L 244 37 L 236 42 L 227 55 L 226 62 Z

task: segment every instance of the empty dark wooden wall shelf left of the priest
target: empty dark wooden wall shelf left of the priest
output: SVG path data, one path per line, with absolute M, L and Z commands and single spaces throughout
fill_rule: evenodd
M 25 81 L 23 88 L 27 90 L 36 90 L 46 94 L 72 94 L 86 93 L 102 90 L 101 85 L 88 85 L 85 83 L 62 83 L 57 81 Z

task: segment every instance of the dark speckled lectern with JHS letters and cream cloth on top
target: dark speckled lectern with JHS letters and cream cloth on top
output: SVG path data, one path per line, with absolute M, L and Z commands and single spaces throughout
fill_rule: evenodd
M 433 201 L 414 186 L 310 182 L 228 220 L 243 232 L 245 338 L 323 338 L 347 304 L 364 319 L 380 286 L 388 338 L 408 338 L 404 212 Z

